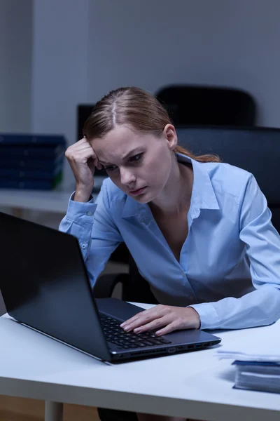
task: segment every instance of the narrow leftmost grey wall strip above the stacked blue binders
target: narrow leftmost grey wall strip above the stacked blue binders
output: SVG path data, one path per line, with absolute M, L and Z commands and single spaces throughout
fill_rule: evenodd
M 32 0 L 0 0 L 0 132 L 31 128 Z

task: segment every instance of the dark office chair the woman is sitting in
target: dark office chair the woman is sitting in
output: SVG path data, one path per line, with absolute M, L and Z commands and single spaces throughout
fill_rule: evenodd
M 280 128 L 189 126 L 177 129 L 177 135 L 179 145 L 190 152 L 218 154 L 224 162 L 253 173 L 267 198 L 274 227 L 280 233 Z M 121 283 L 123 300 L 158 304 L 131 255 L 129 269 L 129 274 L 100 276 L 94 296 L 110 297 L 116 284 Z M 101 408 L 99 417 L 102 421 L 137 420 L 135 413 Z

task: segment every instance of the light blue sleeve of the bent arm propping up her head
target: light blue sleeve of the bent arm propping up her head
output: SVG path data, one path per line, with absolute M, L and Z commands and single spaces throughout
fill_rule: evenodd
M 106 185 L 102 185 L 95 203 L 94 199 L 86 203 L 73 201 L 73 195 L 69 199 L 67 213 L 60 222 L 59 231 L 78 239 L 90 283 L 94 286 L 111 253 L 123 239 L 111 218 Z

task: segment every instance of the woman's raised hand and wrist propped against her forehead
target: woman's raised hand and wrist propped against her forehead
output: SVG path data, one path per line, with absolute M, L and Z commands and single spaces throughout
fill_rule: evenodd
M 86 202 L 90 198 L 94 186 L 94 168 L 102 169 L 97 154 L 95 154 L 90 143 L 83 138 L 69 146 L 66 149 L 65 156 L 76 180 L 74 200 Z

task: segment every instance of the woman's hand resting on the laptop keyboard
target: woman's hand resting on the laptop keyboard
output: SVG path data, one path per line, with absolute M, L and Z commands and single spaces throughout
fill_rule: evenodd
M 173 330 L 199 329 L 200 316 L 192 307 L 157 305 L 136 314 L 120 325 L 125 332 L 143 333 L 155 330 L 156 335 L 166 335 Z

